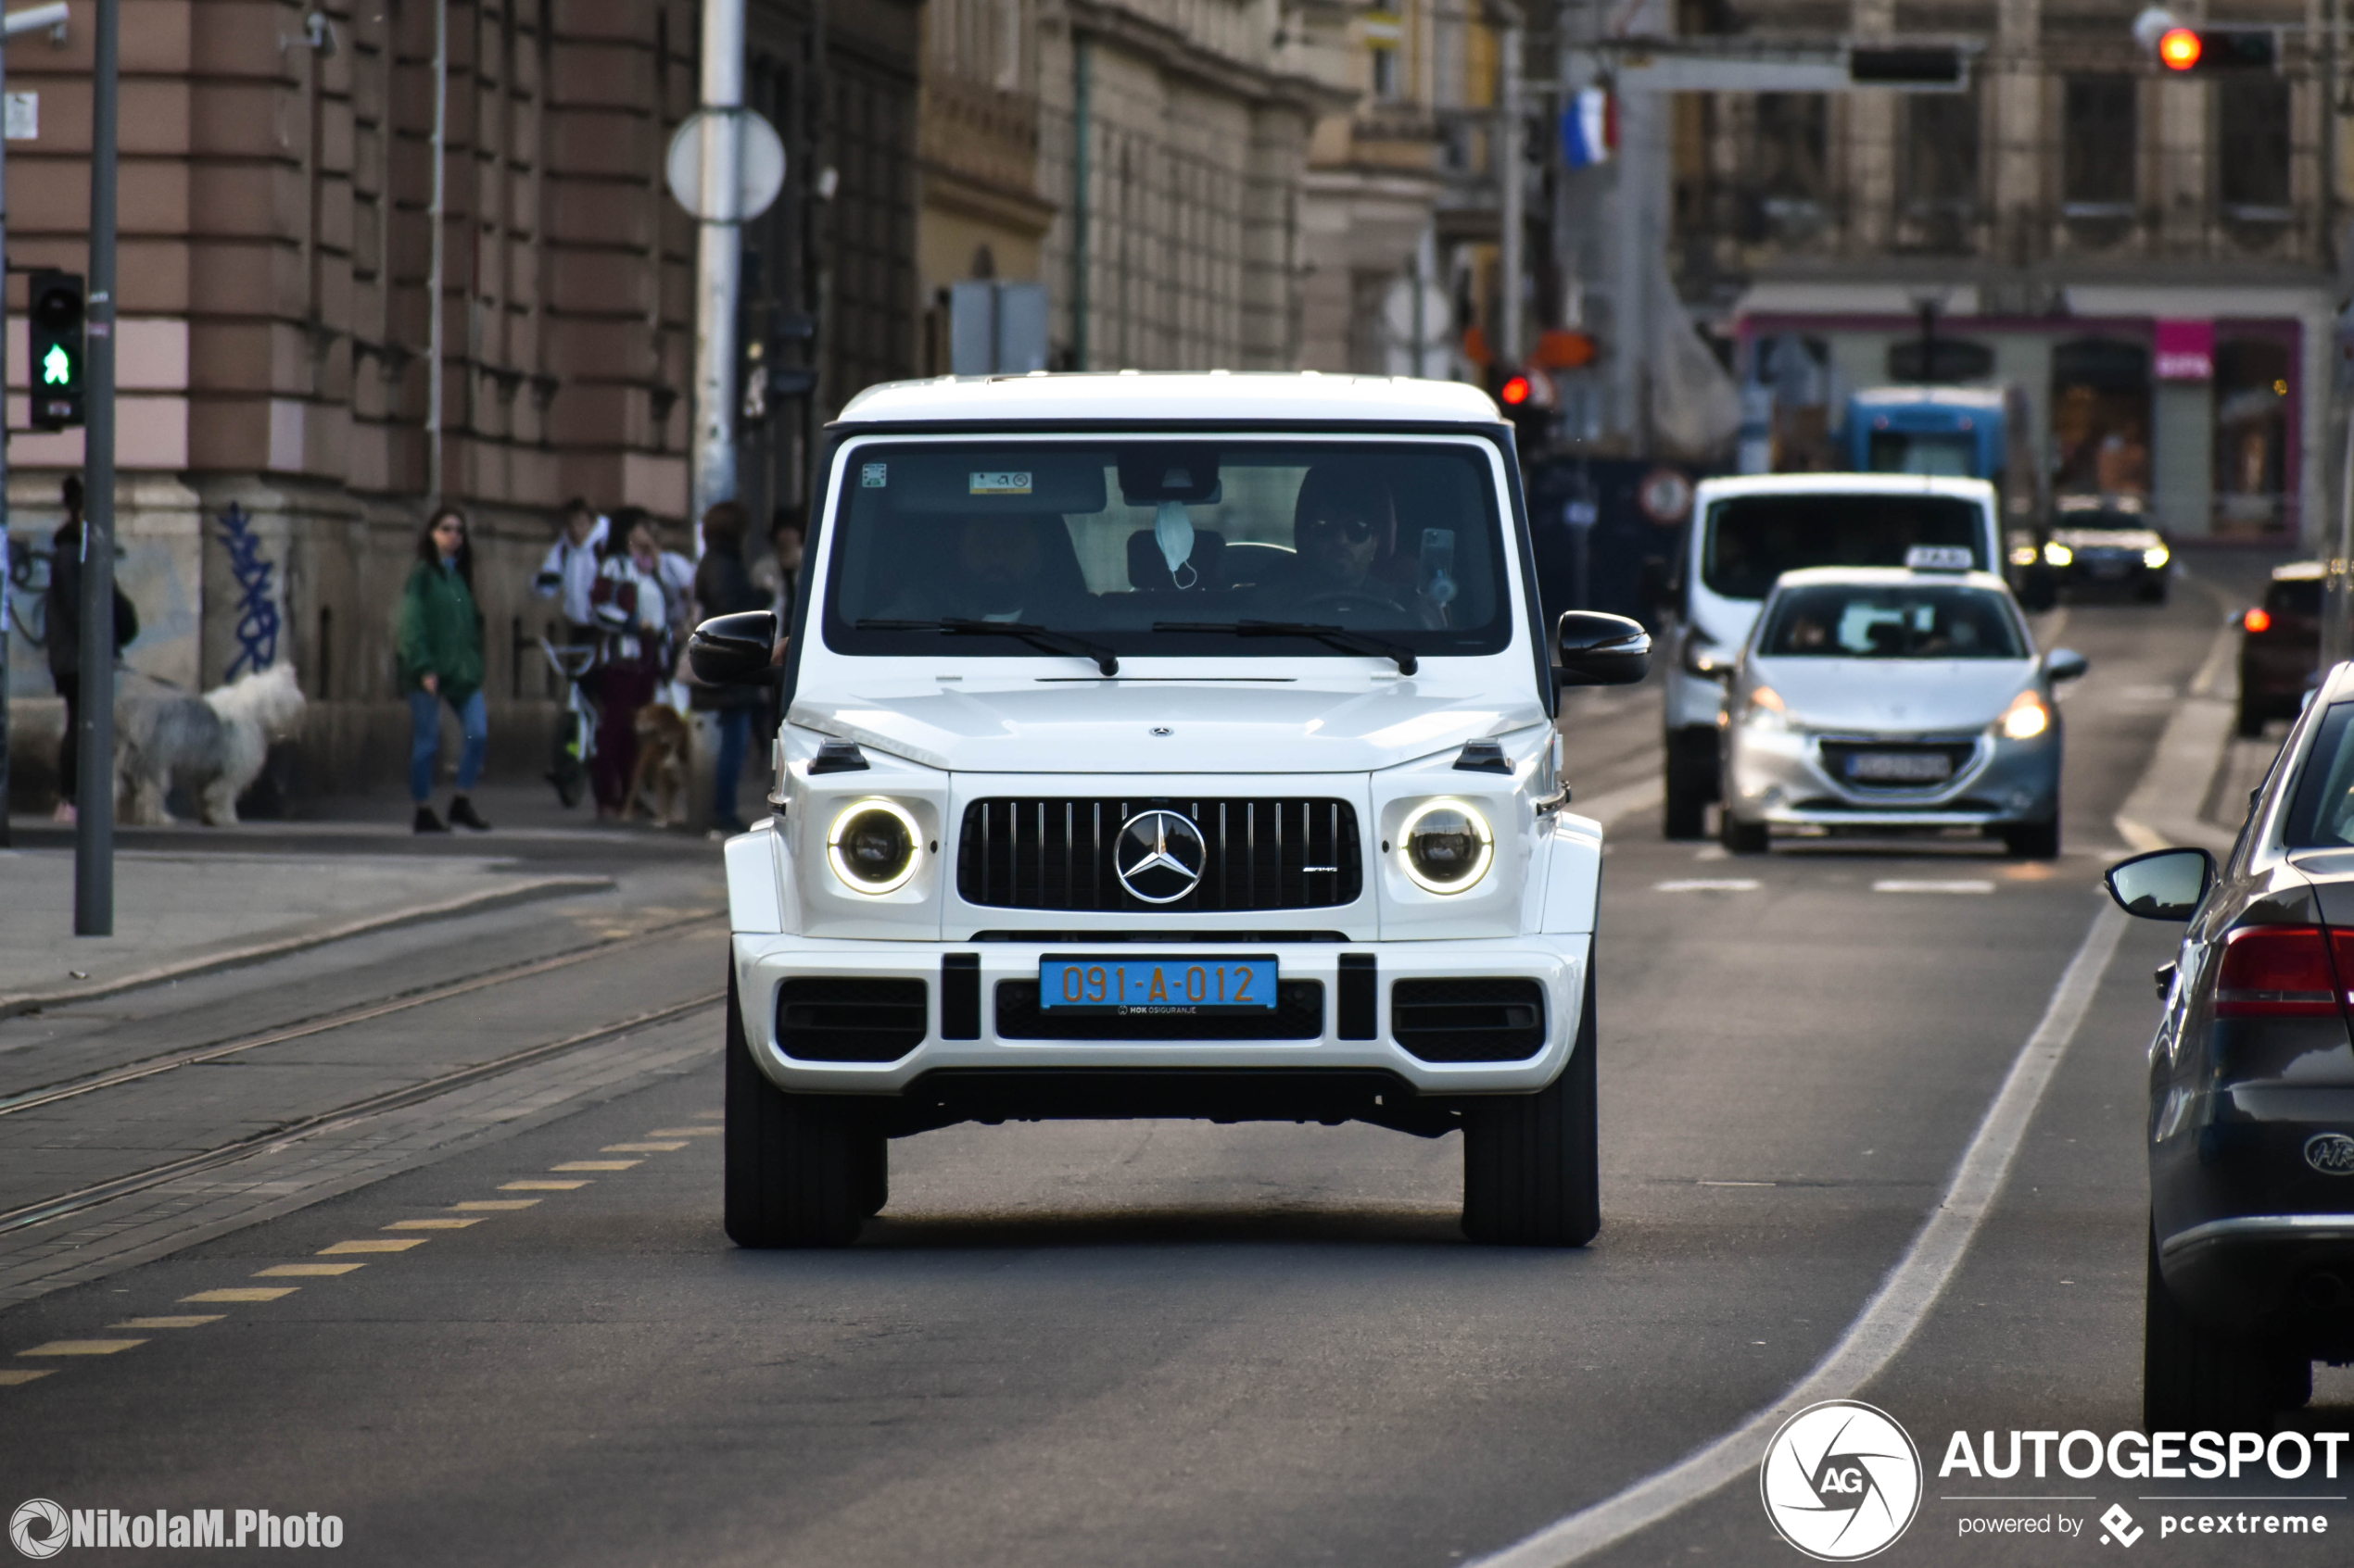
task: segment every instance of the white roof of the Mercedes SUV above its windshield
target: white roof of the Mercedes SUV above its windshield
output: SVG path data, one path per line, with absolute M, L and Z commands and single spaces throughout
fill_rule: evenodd
M 1462 381 L 1318 371 L 1031 371 L 885 381 L 838 423 L 1401 423 L 1492 425 L 1495 400 Z

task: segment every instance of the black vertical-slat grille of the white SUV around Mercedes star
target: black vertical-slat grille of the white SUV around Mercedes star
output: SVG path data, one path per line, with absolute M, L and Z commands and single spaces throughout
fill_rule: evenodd
M 1135 898 L 1113 865 L 1121 827 L 1144 811 L 1175 811 L 1203 837 L 1201 882 L 1172 903 Z M 958 896 L 1000 910 L 1328 910 L 1363 886 L 1342 799 L 977 799 L 956 844 Z

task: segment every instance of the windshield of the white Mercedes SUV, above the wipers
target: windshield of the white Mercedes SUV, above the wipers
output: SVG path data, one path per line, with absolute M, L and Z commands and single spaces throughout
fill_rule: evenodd
M 1278 621 L 1422 656 L 1495 654 L 1511 642 L 1499 517 L 1483 442 L 862 442 L 824 637 L 845 654 L 939 654 L 949 621 L 1076 632 L 1123 656 L 1365 658 L 1231 630 Z M 956 630 L 958 658 L 1040 656 L 1036 639 Z

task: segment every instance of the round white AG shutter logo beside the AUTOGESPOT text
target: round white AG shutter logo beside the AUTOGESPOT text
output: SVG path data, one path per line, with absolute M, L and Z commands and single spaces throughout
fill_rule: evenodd
M 1766 1443 L 1758 1493 L 1791 1547 L 1855 1563 L 1895 1544 L 1921 1512 L 1921 1450 L 1886 1410 L 1827 1399 Z

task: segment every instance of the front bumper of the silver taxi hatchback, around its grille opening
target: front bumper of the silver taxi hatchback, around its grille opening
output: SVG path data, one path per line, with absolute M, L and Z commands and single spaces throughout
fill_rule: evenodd
M 1970 745 L 1968 759 L 1930 788 L 1864 788 L 1824 762 L 1834 745 Z M 1725 806 L 1777 827 L 2003 827 L 2048 823 L 2060 811 L 2060 736 L 1869 736 L 1857 731 L 1725 731 Z

